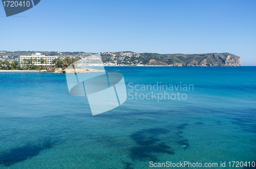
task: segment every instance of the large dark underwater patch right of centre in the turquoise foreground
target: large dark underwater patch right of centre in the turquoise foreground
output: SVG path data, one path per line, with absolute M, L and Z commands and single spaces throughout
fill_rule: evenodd
M 188 139 L 181 134 L 187 125 L 187 123 L 178 126 L 170 125 L 166 126 L 168 130 L 150 128 L 133 133 L 130 137 L 136 145 L 129 149 L 130 158 L 133 161 L 159 161 L 158 156 L 160 154 L 174 155 L 175 149 L 173 147 L 179 151 L 186 150 L 189 148 Z M 162 136 L 165 138 L 164 140 L 161 139 Z M 132 168 L 131 164 L 126 165 L 126 168 Z

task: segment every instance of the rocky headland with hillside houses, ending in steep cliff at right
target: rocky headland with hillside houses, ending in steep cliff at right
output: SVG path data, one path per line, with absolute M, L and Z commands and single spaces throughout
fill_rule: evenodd
M 139 66 L 241 66 L 241 58 L 231 53 L 159 54 L 102 52 L 104 63 Z

